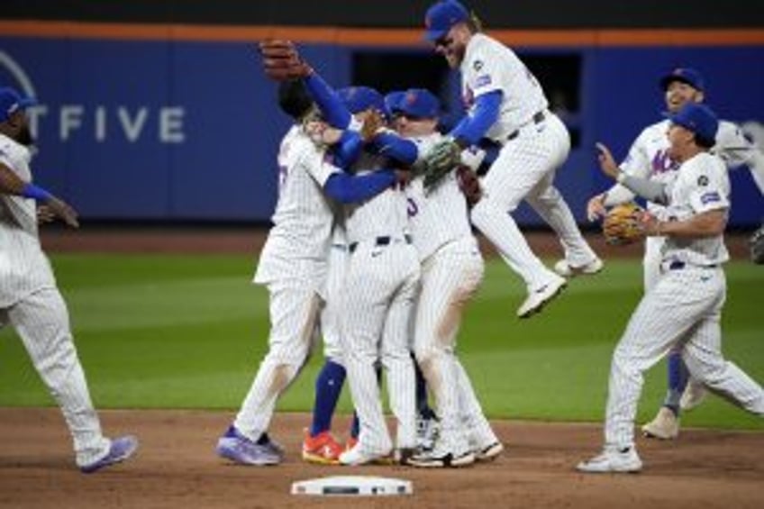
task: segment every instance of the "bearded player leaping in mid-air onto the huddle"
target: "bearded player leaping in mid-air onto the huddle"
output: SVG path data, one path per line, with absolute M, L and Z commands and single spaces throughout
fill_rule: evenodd
M 451 68 L 462 75 L 462 97 L 468 115 L 449 133 L 445 146 L 465 149 L 489 138 L 503 145 L 487 175 L 485 194 L 470 214 L 472 223 L 493 242 L 505 262 L 523 277 L 528 297 L 517 315 L 541 311 L 566 286 L 565 277 L 546 268 L 508 213 L 525 199 L 557 233 L 565 259 L 564 276 L 592 274 L 602 261 L 584 240 L 553 180 L 568 157 L 565 125 L 548 110 L 541 85 L 514 51 L 479 32 L 479 23 L 456 0 L 428 9 L 425 39 Z

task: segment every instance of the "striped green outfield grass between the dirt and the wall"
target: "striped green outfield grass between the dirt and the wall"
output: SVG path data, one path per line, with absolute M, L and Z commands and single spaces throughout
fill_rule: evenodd
M 77 348 L 99 408 L 235 410 L 267 343 L 268 294 L 250 284 L 255 260 L 245 256 L 82 255 L 53 257 L 69 305 Z M 724 352 L 764 381 L 764 270 L 727 267 Z M 491 417 L 599 421 L 610 355 L 641 296 L 637 260 L 612 260 L 597 277 L 571 282 L 543 314 L 519 321 L 524 289 L 498 261 L 468 308 L 459 339 L 484 408 Z M 307 411 L 321 351 L 279 404 Z M 653 368 L 640 421 L 654 414 L 665 367 Z M 0 332 L 0 405 L 50 405 L 21 341 Z M 347 391 L 341 411 L 350 409 Z M 713 397 L 685 425 L 764 430 L 764 423 Z

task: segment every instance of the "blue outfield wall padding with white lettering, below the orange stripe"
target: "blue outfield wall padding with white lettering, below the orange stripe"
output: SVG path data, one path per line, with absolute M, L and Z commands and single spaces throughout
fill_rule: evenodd
M 335 86 L 350 85 L 353 54 L 364 50 L 301 49 Z M 427 49 L 410 51 L 438 58 Z M 761 46 L 527 54 L 544 53 L 581 56 L 580 144 L 557 176 L 581 223 L 587 198 L 609 184 L 596 167 L 594 143 L 605 141 L 622 159 L 641 129 L 659 120 L 657 81 L 670 68 L 702 69 L 709 105 L 764 146 Z M 289 119 L 277 109 L 276 85 L 263 75 L 252 43 L 0 36 L 0 83 L 38 97 L 36 181 L 68 198 L 86 219 L 250 222 L 272 214 L 278 143 Z M 450 109 L 458 109 L 458 87 L 444 89 Z M 732 173 L 732 187 L 732 225 L 759 223 L 764 199 L 747 169 Z M 516 216 L 523 224 L 541 223 L 527 206 Z

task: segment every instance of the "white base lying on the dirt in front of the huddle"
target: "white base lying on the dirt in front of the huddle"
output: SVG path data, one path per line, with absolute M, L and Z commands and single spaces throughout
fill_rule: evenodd
M 390 477 L 333 476 L 292 483 L 292 495 L 386 496 L 411 495 L 411 481 Z

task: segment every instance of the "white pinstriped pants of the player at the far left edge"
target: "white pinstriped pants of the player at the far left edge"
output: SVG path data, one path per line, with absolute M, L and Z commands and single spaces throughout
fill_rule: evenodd
M 0 324 L 6 320 L 21 337 L 34 368 L 59 404 L 74 442 L 77 466 L 103 457 L 111 441 L 101 432 L 59 290 L 42 288 L 0 310 Z

